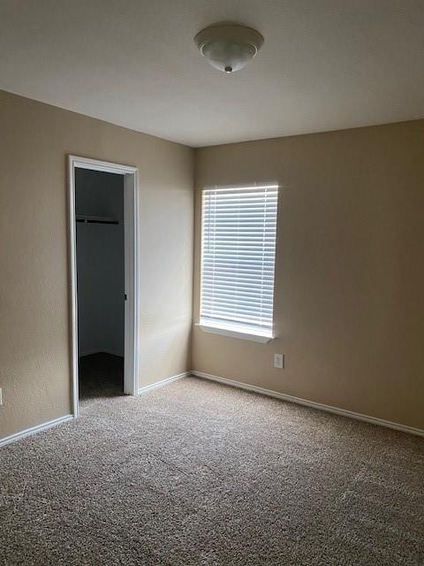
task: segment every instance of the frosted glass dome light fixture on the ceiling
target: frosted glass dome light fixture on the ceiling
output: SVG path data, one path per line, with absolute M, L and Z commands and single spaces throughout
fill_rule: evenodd
M 254 58 L 264 39 L 252 27 L 216 24 L 202 29 L 194 42 L 210 65 L 223 73 L 233 73 Z

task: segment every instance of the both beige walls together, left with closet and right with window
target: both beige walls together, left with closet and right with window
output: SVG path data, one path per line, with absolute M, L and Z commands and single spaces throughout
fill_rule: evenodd
M 139 167 L 140 386 L 190 369 L 193 150 L 3 92 L 0 127 L 3 438 L 71 412 L 67 154 Z M 424 428 L 423 157 L 424 120 L 196 150 L 198 189 L 282 189 L 277 338 L 194 328 L 193 369 Z

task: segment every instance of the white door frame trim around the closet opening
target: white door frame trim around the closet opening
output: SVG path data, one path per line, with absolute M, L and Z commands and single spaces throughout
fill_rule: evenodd
M 124 241 L 125 241 L 125 351 L 124 393 L 137 395 L 138 384 L 138 316 L 139 311 L 139 262 L 138 262 L 138 169 L 130 165 L 99 161 L 87 157 L 68 156 L 69 187 L 69 242 L 72 300 L 72 410 L 79 416 L 78 384 L 78 289 L 77 289 L 77 239 L 75 211 L 75 170 L 110 172 L 124 177 Z

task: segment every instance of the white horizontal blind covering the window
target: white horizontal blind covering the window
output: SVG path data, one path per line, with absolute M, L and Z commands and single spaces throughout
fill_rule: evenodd
M 201 325 L 272 336 L 278 187 L 205 189 Z

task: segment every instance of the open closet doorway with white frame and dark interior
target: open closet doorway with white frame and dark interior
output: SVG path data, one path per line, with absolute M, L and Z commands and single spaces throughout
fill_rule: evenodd
M 137 394 L 137 169 L 69 157 L 72 400 Z

